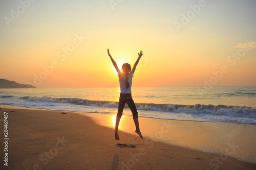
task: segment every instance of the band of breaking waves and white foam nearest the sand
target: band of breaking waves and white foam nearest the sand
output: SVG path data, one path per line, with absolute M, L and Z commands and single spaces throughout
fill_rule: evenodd
M 45 96 L 2 95 L 0 104 L 43 108 L 62 111 L 97 112 L 116 114 L 118 102 L 93 101 L 79 98 L 52 98 Z M 230 122 L 256 124 L 256 108 L 229 105 L 178 105 L 136 103 L 140 116 L 194 120 L 204 122 Z M 125 106 L 124 114 L 131 115 Z

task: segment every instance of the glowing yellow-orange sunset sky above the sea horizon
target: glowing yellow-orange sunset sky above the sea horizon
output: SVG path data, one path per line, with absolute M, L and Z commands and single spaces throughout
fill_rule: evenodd
M 119 66 L 133 66 L 144 52 L 135 87 L 256 85 L 255 2 L 207 1 L 177 29 L 198 2 L 36 1 L 13 19 L 22 5 L 1 1 L 0 78 L 41 88 L 115 87 L 110 48 Z

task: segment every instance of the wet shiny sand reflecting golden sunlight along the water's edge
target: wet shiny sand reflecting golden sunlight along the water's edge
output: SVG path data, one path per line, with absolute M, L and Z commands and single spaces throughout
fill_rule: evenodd
M 9 105 L 0 105 L 0 108 L 10 108 Z M 48 110 L 19 106 L 11 106 L 15 109 Z M 53 111 L 53 110 L 49 110 Z M 59 111 L 66 112 L 66 111 Z M 95 124 L 114 129 L 116 114 L 73 112 L 92 118 Z M 108 122 L 108 123 L 106 123 Z M 225 153 L 230 145 L 236 145 L 236 152 L 227 154 L 229 157 L 256 164 L 256 126 L 252 124 L 238 124 L 226 122 L 200 122 L 193 120 L 158 119 L 153 117 L 140 117 L 140 128 L 143 135 L 154 140 L 178 147 L 203 151 L 205 153 Z M 131 126 L 130 126 L 131 125 Z M 152 128 L 151 125 L 154 125 Z M 165 133 L 161 129 L 166 127 Z M 119 125 L 119 131 L 134 134 L 133 119 L 129 115 L 123 115 Z M 160 133 L 159 133 L 160 131 Z M 160 135 L 161 134 L 161 135 Z M 246 139 L 246 143 L 244 140 Z

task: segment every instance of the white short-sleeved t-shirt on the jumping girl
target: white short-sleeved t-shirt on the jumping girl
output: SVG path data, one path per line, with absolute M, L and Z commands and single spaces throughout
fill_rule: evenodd
M 128 82 L 130 84 L 129 88 L 126 89 L 126 74 L 120 73 L 118 74 L 120 91 L 121 93 L 132 93 L 132 79 L 133 79 L 133 71 L 128 74 Z

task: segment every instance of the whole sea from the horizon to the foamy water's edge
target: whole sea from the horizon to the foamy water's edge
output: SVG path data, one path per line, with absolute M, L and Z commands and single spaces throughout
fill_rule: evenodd
M 119 87 L 0 89 L 0 104 L 117 114 L 119 93 Z M 256 86 L 133 87 L 132 96 L 141 117 L 256 124 Z M 132 115 L 129 107 L 123 115 Z

